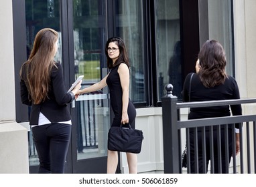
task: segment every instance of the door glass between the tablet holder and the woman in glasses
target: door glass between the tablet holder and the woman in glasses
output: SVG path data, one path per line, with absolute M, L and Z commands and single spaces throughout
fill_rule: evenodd
M 105 6 L 101 0 L 73 1 L 75 78 L 84 75 L 82 88 L 107 75 Z M 77 160 L 107 156 L 108 89 L 79 96 L 76 111 Z

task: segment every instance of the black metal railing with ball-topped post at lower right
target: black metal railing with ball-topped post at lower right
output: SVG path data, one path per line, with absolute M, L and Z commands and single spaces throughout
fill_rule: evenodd
M 221 155 L 220 150 L 220 128 L 225 129 L 225 154 L 229 155 L 228 149 L 228 134 L 227 129 L 230 124 L 232 126 L 232 148 L 235 150 L 235 124 L 239 125 L 239 141 L 240 141 L 240 163 L 238 165 L 236 156 L 233 157 L 233 173 L 237 173 L 237 168 L 240 168 L 241 173 L 256 172 L 256 115 L 241 115 L 241 116 L 227 116 L 219 118 L 203 118 L 198 120 L 180 120 L 181 108 L 200 108 L 211 106 L 227 106 L 235 104 L 252 104 L 256 103 L 256 99 L 240 99 L 240 100 L 218 100 L 208 102 L 178 102 L 176 96 L 172 96 L 172 85 L 166 85 L 166 96 L 162 98 L 162 115 L 163 115 L 163 138 L 164 138 L 164 172 L 165 173 L 182 173 L 182 134 L 181 130 L 186 130 L 186 144 L 189 145 L 189 130 L 193 128 L 195 132 L 194 140 L 197 140 L 197 128 L 202 128 L 202 152 L 203 152 L 203 171 L 206 170 L 205 158 L 205 128 L 210 128 L 210 135 L 212 135 L 212 128 L 217 130 L 217 144 L 218 156 Z M 229 125 L 228 125 L 229 124 Z M 245 126 L 243 126 L 245 124 Z M 253 126 L 253 130 L 251 130 Z M 185 138 L 184 138 L 185 139 Z M 197 143 L 195 144 L 195 152 L 198 152 Z M 213 140 L 210 136 L 210 173 L 214 173 L 214 159 L 213 159 Z M 229 158 L 226 158 L 229 159 Z M 190 148 L 187 146 L 187 163 L 188 168 L 186 172 L 190 173 Z M 195 156 L 194 170 L 198 173 L 198 156 Z M 254 164 L 253 164 L 254 163 Z M 221 159 L 218 159 L 218 170 L 221 173 Z M 215 165 L 216 166 L 216 165 Z M 226 168 L 229 168 L 227 162 Z

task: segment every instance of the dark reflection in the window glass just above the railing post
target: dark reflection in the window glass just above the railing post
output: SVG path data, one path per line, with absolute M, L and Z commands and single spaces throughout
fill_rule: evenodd
M 180 96 L 180 91 L 182 90 L 182 65 L 181 65 L 181 47 L 180 41 L 177 41 L 174 45 L 174 54 L 172 55 L 169 62 L 169 83 L 172 83 L 174 90 L 172 94 L 174 96 Z

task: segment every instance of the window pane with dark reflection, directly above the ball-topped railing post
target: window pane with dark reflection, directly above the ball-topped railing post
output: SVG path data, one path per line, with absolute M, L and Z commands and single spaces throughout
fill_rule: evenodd
M 180 98 L 182 61 L 180 49 L 180 7 L 178 0 L 155 0 L 157 102 L 164 96 L 164 86 L 172 83 L 172 94 Z

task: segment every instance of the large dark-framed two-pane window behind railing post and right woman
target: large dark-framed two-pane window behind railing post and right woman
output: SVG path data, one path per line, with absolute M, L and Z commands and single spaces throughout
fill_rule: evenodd
M 161 102 L 167 83 L 174 86 L 172 94 L 179 100 L 182 98 L 184 77 L 195 71 L 198 51 L 208 39 L 216 39 L 223 45 L 227 53 L 227 73 L 234 75 L 232 1 L 205 0 L 193 4 L 196 2 L 155 0 L 157 102 Z M 194 7 L 188 7 L 191 4 Z M 186 15 L 183 20 L 180 20 L 180 11 Z M 198 39 L 191 38 L 197 36 Z M 188 55 L 188 51 L 192 53 Z

